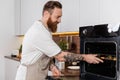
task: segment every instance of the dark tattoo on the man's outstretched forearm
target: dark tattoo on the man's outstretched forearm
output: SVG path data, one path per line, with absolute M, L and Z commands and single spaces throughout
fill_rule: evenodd
M 75 54 L 75 53 L 70 53 L 68 52 L 67 55 L 64 56 L 64 58 L 66 59 L 67 62 L 73 62 L 73 61 L 82 61 L 83 60 L 83 56 L 80 54 Z

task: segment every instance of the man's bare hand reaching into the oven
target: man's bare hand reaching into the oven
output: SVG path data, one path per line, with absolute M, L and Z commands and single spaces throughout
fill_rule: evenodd
M 98 64 L 100 62 L 103 63 L 103 60 L 101 60 L 100 58 L 97 58 L 96 54 L 85 54 L 85 55 L 83 54 L 82 56 L 84 57 L 83 60 L 88 63 L 92 63 L 92 64 Z

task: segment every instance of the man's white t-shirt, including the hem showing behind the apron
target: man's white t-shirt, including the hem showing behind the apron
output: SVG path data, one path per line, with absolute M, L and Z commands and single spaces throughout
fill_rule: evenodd
M 23 39 L 21 64 L 34 64 L 43 54 L 53 57 L 61 51 L 53 41 L 49 30 L 40 21 L 36 21 Z M 16 80 L 25 80 L 27 67 L 20 65 Z

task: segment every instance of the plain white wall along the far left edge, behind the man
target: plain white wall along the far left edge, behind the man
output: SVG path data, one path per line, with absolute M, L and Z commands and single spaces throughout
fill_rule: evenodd
M 14 0 L 0 0 L 0 80 L 5 80 L 4 56 L 15 48 Z

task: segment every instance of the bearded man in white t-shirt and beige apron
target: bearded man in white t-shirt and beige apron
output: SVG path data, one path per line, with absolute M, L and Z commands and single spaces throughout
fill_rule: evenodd
M 48 1 L 44 5 L 42 19 L 36 21 L 24 36 L 21 64 L 16 80 L 45 80 L 48 70 L 52 71 L 53 76 L 60 76 L 61 72 L 52 62 L 53 58 L 61 62 L 103 62 L 96 55 L 61 51 L 51 35 L 51 32 L 56 32 L 61 16 L 62 5 L 58 1 Z

